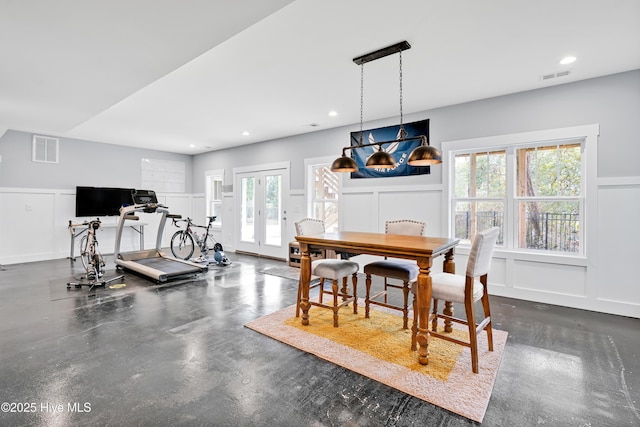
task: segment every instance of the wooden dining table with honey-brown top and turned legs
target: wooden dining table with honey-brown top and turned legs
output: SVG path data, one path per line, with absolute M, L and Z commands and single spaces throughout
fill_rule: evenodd
M 415 260 L 420 268 L 417 280 L 416 303 L 418 310 L 418 361 L 429 364 L 429 309 L 431 307 L 431 267 L 434 258 L 444 256 L 443 270 L 455 273 L 453 254 L 459 239 L 428 236 L 405 236 L 386 233 L 339 231 L 296 236 L 300 245 L 300 286 L 302 324 L 309 325 L 309 285 L 311 258 L 315 249 L 331 249 L 338 253 L 369 254 Z M 408 344 L 410 345 L 410 344 Z

